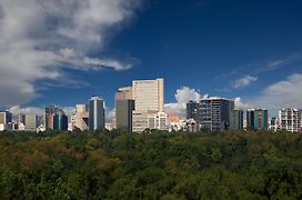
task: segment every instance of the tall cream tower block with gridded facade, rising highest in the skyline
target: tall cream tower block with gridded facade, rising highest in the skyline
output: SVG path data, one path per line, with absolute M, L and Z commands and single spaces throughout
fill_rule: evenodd
M 164 111 L 163 79 L 133 81 L 135 110 Z

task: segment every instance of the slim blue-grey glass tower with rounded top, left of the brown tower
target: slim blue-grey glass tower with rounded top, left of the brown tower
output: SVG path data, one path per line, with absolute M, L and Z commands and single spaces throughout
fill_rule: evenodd
M 99 97 L 89 100 L 89 130 L 104 129 L 104 101 Z

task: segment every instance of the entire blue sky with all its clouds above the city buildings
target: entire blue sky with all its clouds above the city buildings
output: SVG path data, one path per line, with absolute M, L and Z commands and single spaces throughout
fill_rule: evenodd
M 189 100 L 208 93 L 271 117 L 302 108 L 300 1 L 90 2 L 0 3 L 0 108 L 40 112 L 54 103 L 68 113 L 101 96 L 112 118 L 118 88 L 157 77 L 167 82 L 165 110 L 182 117 Z

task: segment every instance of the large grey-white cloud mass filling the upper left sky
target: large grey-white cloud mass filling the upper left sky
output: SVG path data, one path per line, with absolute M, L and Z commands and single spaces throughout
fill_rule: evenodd
M 39 97 L 36 82 L 62 82 L 66 68 L 131 68 L 131 61 L 91 54 L 104 50 L 108 36 L 139 6 L 140 0 L 1 0 L 0 106 Z

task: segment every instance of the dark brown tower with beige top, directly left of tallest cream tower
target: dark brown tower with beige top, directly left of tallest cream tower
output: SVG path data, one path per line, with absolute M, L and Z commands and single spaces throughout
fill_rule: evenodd
M 132 111 L 134 110 L 132 87 L 121 88 L 115 93 L 115 127 L 132 132 Z

